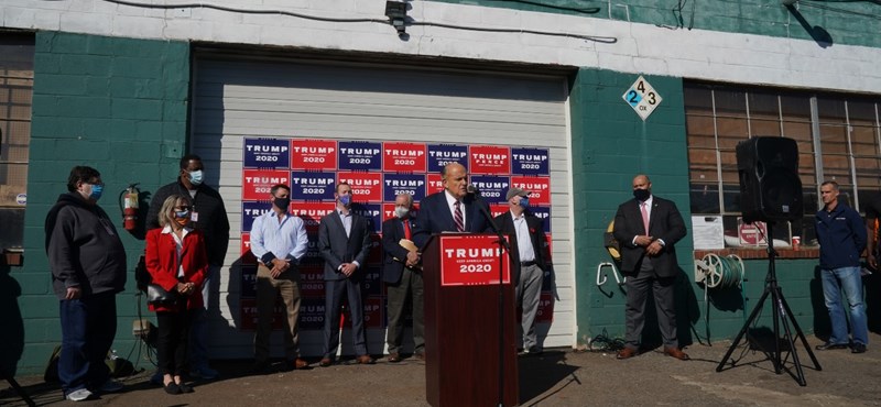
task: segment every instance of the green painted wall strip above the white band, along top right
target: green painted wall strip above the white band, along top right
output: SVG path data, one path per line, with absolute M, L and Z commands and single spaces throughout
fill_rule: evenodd
M 693 28 L 833 45 L 881 47 L 881 36 L 878 35 L 881 32 L 881 3 L 877 1 L 802 1 L 792 9 L 782 6 L 780 0 L 633 0 L 612 2 L 611 6 L 606 1 L 583 0 L 433 1 L 631 21 L 673 30 Z M 599 11 L 589 12 L 591 8 L 599 8 Z

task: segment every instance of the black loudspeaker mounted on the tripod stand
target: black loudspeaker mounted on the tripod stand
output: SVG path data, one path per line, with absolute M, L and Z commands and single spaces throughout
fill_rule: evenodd
M 737 145 L 743 221 L 773 222 L 804 215 L 798 145 L 795 140 L 758 136 Z

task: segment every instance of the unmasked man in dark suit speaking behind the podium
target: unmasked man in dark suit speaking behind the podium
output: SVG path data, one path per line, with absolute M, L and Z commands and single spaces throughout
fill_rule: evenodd
M 468 194 L 468 172 L 459 163 L 450 163 L 440 170 L 444 190 L 432 194 L 420 202 L 420 215 L 413 226 L 413 242 L 423 248 L 432 233 L 481 233 L 489 229 L 487 217 L 479 206 L 489 208 L 482 200 Z

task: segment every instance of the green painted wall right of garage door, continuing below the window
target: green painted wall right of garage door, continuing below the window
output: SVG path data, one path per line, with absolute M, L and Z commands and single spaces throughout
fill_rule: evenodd
M 679 339 L 683 344 L 733 339 L 764 289 L 768 261 L 748 261 L 743 294 L 737 288 L 711 289 L 709 330 L 703 285 L 694 283 L 693 241 L 688 205 L 688 157 L 685 136 L 682 80 L 646 76 L 663 97 L 644 122 L 622 100 L 638 75 L 583 68 L 573 82 L 572 153 L 575 196 L 575 261 L 578 342 L 599 334 L 623 338 L 624 292 L 609 280 L 597 286 L 597 267 L 611 257 L 602 234 L 618 206 L 632 199 L 631 182 L 648 174 L 653 193 L 676 202 L 689 234 L 677 245 L 682 284 L 677 293 Z M 819 280 L 814 276 L 816 260 L 779 260 L 777 277 L 793 314 L 805 332 L 822 327 L 825 315 Z M 746 301 L 744 301 L 746 298 Z M 770 307 L 770 301 L 766 304 Z M 744 309 L 746 314 L 744 315 Z M 770 316 L 770 308 L 762 316 Z M 769 322 L 763 318 L 760 322 Z M 769 324 L 770 326 L 770 324 Z

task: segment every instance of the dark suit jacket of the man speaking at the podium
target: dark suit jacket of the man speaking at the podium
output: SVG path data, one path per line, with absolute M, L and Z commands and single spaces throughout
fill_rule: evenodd
M 444 190 L 432 194 L 420 202 L 420 212 L 413 220 L 413 242 L 416 246 L 424 248 L 433 233 L 456 231 L 456 221 L 453 220 L 445 194 Z M 482 206 L 489 213 L 487 202 L 467 196 L 463 199 L 463 204 L 466 232 L 483 233 L 491 230 L 487 217 L 479 208 Z

